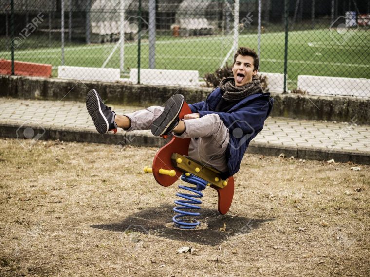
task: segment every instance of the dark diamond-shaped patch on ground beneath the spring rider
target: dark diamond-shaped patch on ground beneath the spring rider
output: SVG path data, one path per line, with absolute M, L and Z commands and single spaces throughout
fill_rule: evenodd
M 170 205 L 161 205 L 148 208 L 135 214 L 129 215 L 123 221 L 106 224 L 92 225 L 91 227 L 126 232 L 135 231 L 146 234 L 154 234 L 171 240 L 196 242 L 199 244 L 215 246 L 229 237 L 237 234 L 246 234 L 258 229 L 262 223 L 273 219 L 249 219 L 241 216 L 222 215 L 216 209 L 202 208 L 198 220 L 208 225 L 205 229 L 181 230 L 167 227 L 176 214 Z M 220 228 L 226 225 L 226 231 Z

